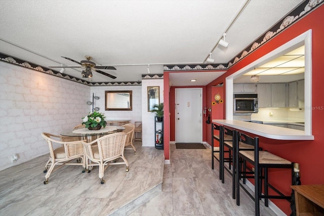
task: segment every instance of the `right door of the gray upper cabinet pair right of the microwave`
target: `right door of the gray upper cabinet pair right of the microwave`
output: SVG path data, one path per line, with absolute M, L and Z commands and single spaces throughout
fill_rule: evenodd
M 272 107 L 286 107 L 287 83 L 271 83 Z

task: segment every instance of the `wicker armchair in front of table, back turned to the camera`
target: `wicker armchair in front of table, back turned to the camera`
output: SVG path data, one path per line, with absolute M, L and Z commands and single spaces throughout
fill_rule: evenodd
M 119 132 L 100 137 L 90 143 L 82 141 L 87 158 L 86 170 L 90 172 L 93 166 L 99 166 L 99 179 L 101 184 L 105 183 L 103 176 L 108 165 L 126 164 L 126 171 L 129 170 L 128 161 L 124 157 L 126 137 L 126 133 Z M 93 146 L 95 143 L 98 145 Z M 115 162 L 119 158 L 122 158 L 124 162 Z M 88 159 L 94 163 L 89 164 Z

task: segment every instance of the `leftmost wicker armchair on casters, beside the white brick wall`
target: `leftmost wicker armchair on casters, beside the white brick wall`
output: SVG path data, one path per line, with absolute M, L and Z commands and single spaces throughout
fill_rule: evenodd
M 85 154 L 81 141 L 71 141 L 69 137 L 62 137 L 49 133 L 42 133 L 42 137 L 45 139 L 50 149 L 50 158 L 44 170 L 46 173 L 44 184 L 48 184 L 51 173 L 63 165 L 80 165 L 84 167 L 82 172 L 85 172 Z M 71 139 L 75 138 L 73 137 Z M 53 144 L 59 144 L 61 147 L 54 149 Z M 71 160 L 73 159 L 77 159 L 77 162 L 72 163 Z M 54 169 L 56 165 L 60 166 Z

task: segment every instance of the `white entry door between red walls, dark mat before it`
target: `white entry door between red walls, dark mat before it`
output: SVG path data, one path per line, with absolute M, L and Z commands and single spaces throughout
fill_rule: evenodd
M 203 100 L 201 88 L 176 89 L 176 142 L 203 141 Z

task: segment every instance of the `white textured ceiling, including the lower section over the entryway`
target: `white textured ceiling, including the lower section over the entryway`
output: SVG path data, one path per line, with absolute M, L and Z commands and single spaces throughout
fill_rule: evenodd
M 43 66 L 76 65 L 61 56 L 79 62 L 89 55 L 97 64 L 115 66 L 102 71 L 117 78 L 94 72 L 85 80 L 138 81 L 147 64 L 151 73 L 163 73 L 164 64 L 201 64 L 211 51 L 215 63 L 227 63 L 300 2 L 1 0 L 0 52 Z M 228 48 L 214 49 L 228 28 Z M 81 71 L 64 73 L 82 78 Z M 207 84 L 221 74 L 193 78 Z M 192 85 L 186 81 L 191 75 L 171 76 L 172 83 Z

